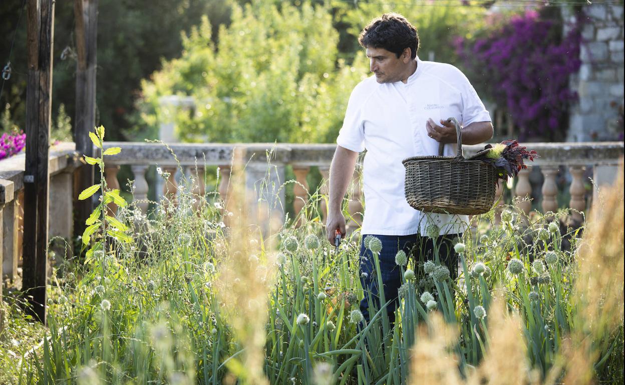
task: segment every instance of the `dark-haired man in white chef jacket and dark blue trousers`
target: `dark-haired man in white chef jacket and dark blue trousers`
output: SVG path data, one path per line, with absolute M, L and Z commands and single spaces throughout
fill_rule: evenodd
M 384 14 L 365 27 L 359 42 L 366 49 L 371 76 L 362 80 L 349 97 L 347 112 L 337 137 L 330 167 L 327 238 L 334 243 L 336 230 L 345 234 L 341 203 L 351 181 L 359 152 L 367 150 L 362 167 L 365 199 L 361 228 L 361 283 L 377 296 L 376 271 L 364 238 L 382 241 L 379 255 L 387 307 L 391 321 L 401 285 L 397 251 L 412 248 L 422 259 L 432 259 L 432 239 L 426 229 L 438 229 L 440 260 L 452 278 L 457 275 L 457 255 L 452 240 L 467 228 L 468 218 L 422 213 L 404 197 L 402 160 L 418 155 L 455 155 L 456 130 L 445 122 L 456 117 L 462 127 L 462 143 L 479 144 L 491 139 L 492 124 L 484 104 L 456 67 L 421 61 L 417 56 L 417 30 L 399 14 Z M 432 181 L 434 182 L 434 181 Z M 378 304 L 379 306 L 379 304 Z M 369 319 L 367 300 L 361 311 Z

